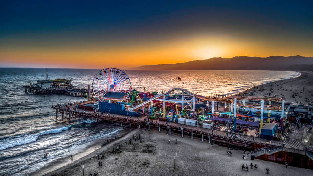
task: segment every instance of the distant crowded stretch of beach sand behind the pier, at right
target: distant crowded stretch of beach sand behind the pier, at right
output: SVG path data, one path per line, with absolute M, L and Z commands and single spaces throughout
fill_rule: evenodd
M 313 72 L 301 71 L 301 76 L 297 78 L 285 79 L 273 83 L 255 86 L 252 89 L 241 93 L 241 95 L 258 97 L 283 97 L 286 102 L 312 105 L 310 102 L 313 101 Z

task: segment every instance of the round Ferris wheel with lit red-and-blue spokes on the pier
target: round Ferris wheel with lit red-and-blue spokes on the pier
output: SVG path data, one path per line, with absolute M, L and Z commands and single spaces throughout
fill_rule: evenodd
M 131 82 L 125 72 L 116 68 L 100 70 L 93 79 L 92 90 L 96 99 L 104 99 L 108 92 L 124 93 L 128 97 Z

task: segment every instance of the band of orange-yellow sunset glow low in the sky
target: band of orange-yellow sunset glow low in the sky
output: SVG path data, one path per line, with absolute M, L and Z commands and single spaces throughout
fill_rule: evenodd
M 309 46 L 309 45 L 308 45 Z M 294 47 L 283 41 L 262 41 L 226 36 L 191 36 L 135 43 L 94 43 L 92 45 L 11 46 L 0 48 L 0 65 L 41 65 L 62 68 L 129 69 L 141 65 L 182 63 L 212 57 L 302 55 L 313 51 L 303 43 Z M 44 66 L 43 66 L 44 65 Z

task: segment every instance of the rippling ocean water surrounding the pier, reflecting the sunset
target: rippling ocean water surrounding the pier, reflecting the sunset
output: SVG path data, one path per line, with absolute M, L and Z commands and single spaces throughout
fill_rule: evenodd
M 97 69 L 48 69 L 49 79 L 91 84 Z M 300 75 L 293 71 L 139 71 L 124 70 L 133 89 L 168 90 L 180 86 L 199 95 L 231 94 L 251 86 Z M 183 81 L 177 81 L 180 77 Z M 29 175 L 45 165 L 85 152 L 96 140 L 125 133 L 118 124 L 90 119 L 56 121 L 51 104 L 85 100 L 61 95 L 25 94 L 23 85 L 46 78 L 42 68 L 0 68 L 0 175 Z M 95 148 L 96 149 L 96 148 Z M 44 155 L 48 154 L 45 158 Z

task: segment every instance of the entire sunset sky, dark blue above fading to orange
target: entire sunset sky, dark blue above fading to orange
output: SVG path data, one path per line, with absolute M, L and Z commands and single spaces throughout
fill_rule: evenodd
M 313 56 L 313 1 L 6 1 L 0 67 Z

